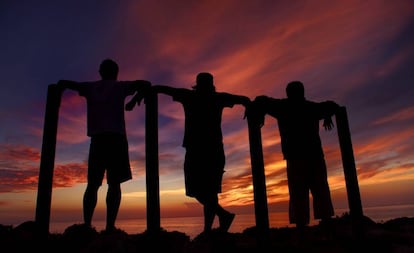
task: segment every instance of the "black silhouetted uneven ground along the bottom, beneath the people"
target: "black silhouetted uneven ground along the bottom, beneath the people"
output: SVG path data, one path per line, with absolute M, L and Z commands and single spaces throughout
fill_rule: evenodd
M 259 235 L 252 227 L 242 233 L 213 231 L 190 239 L 178 231 L 105 233 L 75 224 L 62 234 L 42 236 L 28 221 L 17 227 L 0 225 L 0 252 L 414 252 L 414 217 L 384 223 L 364 217 L 355 223 L 343 216 L 328 224 L 328 233 L 323 227 L 309 227 L 302 236 L 295 228 L 271 228 Z

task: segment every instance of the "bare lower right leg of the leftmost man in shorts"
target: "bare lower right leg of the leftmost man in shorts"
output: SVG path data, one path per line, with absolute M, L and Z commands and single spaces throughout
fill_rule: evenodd
M 115 230 L 115 220 L 118 215 L 119 206 L 121 204 L 121 185 L 108 185 L 106 194 L 106 230 Z

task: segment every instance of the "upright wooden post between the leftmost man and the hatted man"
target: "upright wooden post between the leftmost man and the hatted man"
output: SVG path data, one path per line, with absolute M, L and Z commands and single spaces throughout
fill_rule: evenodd
M 147 231 L 159 232 L 161 226 L 158 172 L 158 98 L 154 92 L 150 92 L 145 98 L 145 153 Z

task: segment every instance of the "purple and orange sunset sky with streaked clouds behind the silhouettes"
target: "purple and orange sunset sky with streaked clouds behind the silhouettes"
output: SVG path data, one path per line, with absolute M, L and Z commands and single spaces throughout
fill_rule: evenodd
M 309 100 L 348 112 L 363 207 L 414 204 L 414 1 L 2 1 L 0 224 L 33 220 L 47 88 L 98 80 L 112 58 L 120 80 L 191 88 L 199 72 L 217 91 L 285 97 L 300 80 Z M 159 102 L 162 217 L 199 216 L 185 196 L 184 114 Z M 65 91 L 60 107 L 51 221 L 82 221 L 89 138 L 86 103 Z M 254 213 L 244 108 L 225 109 L 227 155 L 220 202 Z M 133 180 L 122 184 L 119 218 L 146 214 L 145 105 L 126 112 Z M 269 211 L 287 211 L 277 121 L 262 128 Z M 336 127 L 321 138 L 335 208 L 347 208 Z M 106 182 L 95 217 L 105 217 Z M 337 213 L 340 215 L 340 213 Z

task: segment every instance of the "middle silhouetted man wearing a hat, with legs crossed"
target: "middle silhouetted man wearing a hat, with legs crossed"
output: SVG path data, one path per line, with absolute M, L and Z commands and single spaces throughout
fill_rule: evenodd
M 192 89 L 153 85 L 153 91 L 169 95 L 184 108 L 184 182 L 186 195 L 203 205 L 204 231 L 210 232 L 214 218 L 219 218 L 219 231 L 227 232 L 235 214 L 225 210 L 218 200 L 222 191 L 225 166 L 222 112 L 236 104 L 248 105 L 245 96 L 216 92 L 213 75 L 202 72 L 197 75 Z M 132 109 L 134 99 L 127 103 Z

